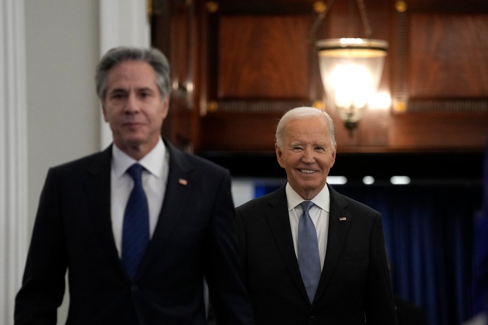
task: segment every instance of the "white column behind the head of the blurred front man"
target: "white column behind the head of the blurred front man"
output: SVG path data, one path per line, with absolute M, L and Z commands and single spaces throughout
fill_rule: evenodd
M 100 0 L 100 57 L 115 46 L 150 45 L 147 1 Z M 112 132 L 101 117 L 101 149 L 112 142 Z

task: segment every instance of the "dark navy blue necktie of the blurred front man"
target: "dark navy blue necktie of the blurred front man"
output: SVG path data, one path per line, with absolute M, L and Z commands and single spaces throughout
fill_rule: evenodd
M 149 243 L 149 208 L 142 188 L 142 167 L 135 163 L 127 169 L 134 180 L 134 188 L 130 193 L 122 228 L 122 263 L 129 279 L 134 280 L 142 256 Z

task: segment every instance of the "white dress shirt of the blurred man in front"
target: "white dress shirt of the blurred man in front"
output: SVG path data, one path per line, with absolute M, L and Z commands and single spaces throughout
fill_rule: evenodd
M 152 238 L 158 223 L 169 172 L 169 153 L 160 138 L 158 144 L 138 162 L 125 152 L 112 145 L 112 166 L 110 172 L 110 215 L 115 246 L 122 257 L 123 216 L 130 192 L 134 187 L 132 177 L 127 169 L 134 163 L 144 167 L 142 170 L 142 187 L 147 197 L 149 208 L 149 239 Z

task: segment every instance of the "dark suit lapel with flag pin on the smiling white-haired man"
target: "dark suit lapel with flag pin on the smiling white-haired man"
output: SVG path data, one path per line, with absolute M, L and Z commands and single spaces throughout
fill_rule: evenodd
M 352 216 L 344 209 L 347 202 L 339 193 L 334 191 L 329 184 L 327 184 L 330 193 L 330 212 L 329 212 L 329 229 L 327 234 L 327 249 L 325 250 L 324 267 L 322 268 L 322 275 L 320 277 L 319 286 L 315 293 L 312 308 L 320 299 L 320 296 L 325 290 L 332 272 L 334 271 L 339 256 L 341 255 L 342 247 L 346 241 L 347 230 L 352 221 Z M 339 218 L 346 218 L 345 221 L 340 221 Z

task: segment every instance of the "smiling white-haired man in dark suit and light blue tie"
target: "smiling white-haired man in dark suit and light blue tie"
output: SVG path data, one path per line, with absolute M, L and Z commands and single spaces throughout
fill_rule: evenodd
M 236 208 L 256 324 L 396 324 L 381 215 L 326 183 L 336 158 L 330 116 L 288 111 L 275 149 L 288 182 Z

